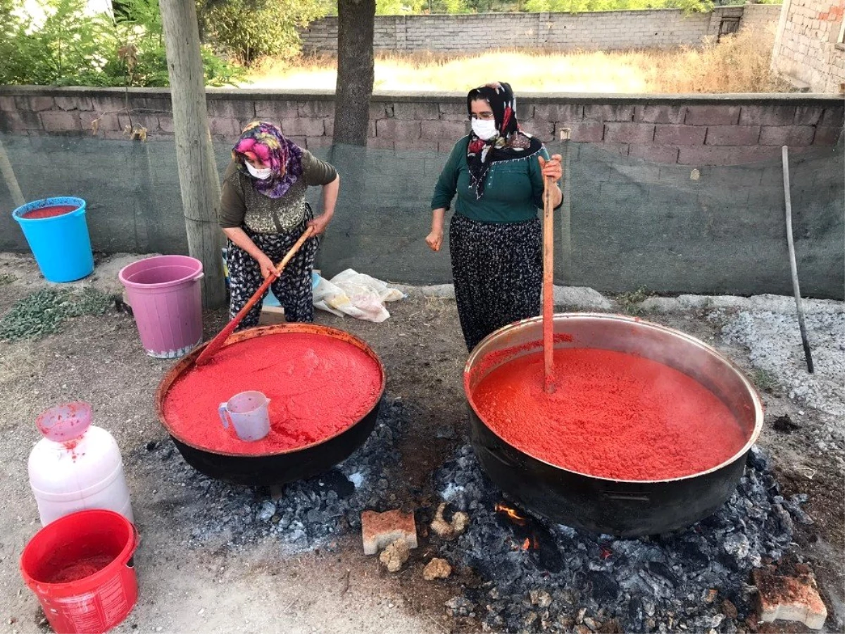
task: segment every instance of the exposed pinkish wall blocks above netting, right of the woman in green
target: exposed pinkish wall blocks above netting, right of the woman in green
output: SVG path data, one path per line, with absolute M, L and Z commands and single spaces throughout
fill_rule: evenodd
M 523 106 L 526 101 L 523 99 Z M 783 96 L 713 99 L 620 98 L 609 103 L 534 101 L 526 128 L 543 139 L 570 128 L 590 143 L 655 163 L 740 165 L 776 158 L 781 146 L 804 151 L 835 145 L 845 123 L 845 101 L 797 101 Z

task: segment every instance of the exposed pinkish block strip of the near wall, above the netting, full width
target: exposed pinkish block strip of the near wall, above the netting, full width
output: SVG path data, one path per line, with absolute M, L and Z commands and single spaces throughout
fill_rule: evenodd
M 0 88 L 0 132 L 28 136 L 95 135 L 171 139 L 167 90 Z M 448 152 L 467 133 L 462 95 L 375 95 L 368 145 L 386 150 Z M 310 150 L 331 145 L 334 95 L 327 91 L 208 90 L 212 137 L 232 143 L 246 123 L 262 118 Z M 523 127 L 545 142 L 571 130 L 575 143 L 656 163 L 737 165 L 793 151 L 837 145 L 845 99 L 813 95 L 602 96 L 521 95 Z

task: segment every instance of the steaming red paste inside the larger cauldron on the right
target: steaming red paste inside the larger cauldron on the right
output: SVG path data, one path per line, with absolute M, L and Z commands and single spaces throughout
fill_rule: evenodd
M 716 467 L 747 440 L 716 395 L 662 363 L 558 348 L 554 365 L 552 394 L 543 390 L 542 350 L 503 363 L 472 392 L 490 429 L 544 462 L 602 478 L 661 480 Z

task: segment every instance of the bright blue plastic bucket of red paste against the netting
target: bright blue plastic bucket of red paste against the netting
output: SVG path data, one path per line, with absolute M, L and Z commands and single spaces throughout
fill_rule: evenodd
M 61 216 L 26 217 L 31 211 L 55 205 L 73 205 L 76 209 Z M 18 207 L 12 217 L 18 221 L 41 275 L 47 281 L 80 280 L 94 271 L 94 254 L 85 222 L 85 200 L 70 196 L 35 200 Z

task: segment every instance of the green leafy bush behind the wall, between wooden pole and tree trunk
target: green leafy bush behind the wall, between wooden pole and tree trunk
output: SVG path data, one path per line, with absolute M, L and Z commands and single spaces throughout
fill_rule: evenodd
M 198 0 L 198 8 L 204 35 L 244 64 L 296 57 L 297 27 L 330 13 L 325 0 Z

